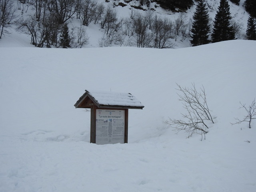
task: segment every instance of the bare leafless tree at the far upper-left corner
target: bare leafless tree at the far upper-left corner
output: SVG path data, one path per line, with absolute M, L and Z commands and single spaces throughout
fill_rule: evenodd
M 8 28 L 16 19 L 16 11 L 11 0 L 0 0 L 0 39 L 3 34 L 9 34 Z

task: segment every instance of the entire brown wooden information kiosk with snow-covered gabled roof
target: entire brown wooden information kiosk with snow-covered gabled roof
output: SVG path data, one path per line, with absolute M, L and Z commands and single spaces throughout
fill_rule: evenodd
M 128 109 L 144 106 L 130 93 L 88 91 L 74 105 L 91 109 L 90 142 L 115 144 L 128 142 Z

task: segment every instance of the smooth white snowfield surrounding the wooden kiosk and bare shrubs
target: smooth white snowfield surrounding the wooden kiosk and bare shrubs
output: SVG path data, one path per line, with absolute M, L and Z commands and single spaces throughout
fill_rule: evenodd
M 0 192 L 255 192 L 256 41 L 180 49 L 0 48 Z M 206 140 L 175 134 L 177 85 L 205 88 Z M 90 143 L 84 90 L 131 92 L 128 144 Z

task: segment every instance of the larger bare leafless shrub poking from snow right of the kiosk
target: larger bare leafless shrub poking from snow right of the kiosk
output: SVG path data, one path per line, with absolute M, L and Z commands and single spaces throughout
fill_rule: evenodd
M 166 123 L 177 132 L 181 130 L 188 132 L 188 138 L 196 133 L 200 134 L 202 138 L 204 136 L 205 139 L 205 134 L 209 128 L 207 122 L 214 123 L 214 121 L 206 102 L 204 86 L 200 88 L 200 92 L 196 90 L 194 84 L 192 84 L 192 88 L 182 88 L 179 84 L 177 86 L 177 90 L 181 92 L 181 94 L 178 94 L 179 100 L 183 102 L 186 114 L 182 114 L 184 120 L 169 118 Z

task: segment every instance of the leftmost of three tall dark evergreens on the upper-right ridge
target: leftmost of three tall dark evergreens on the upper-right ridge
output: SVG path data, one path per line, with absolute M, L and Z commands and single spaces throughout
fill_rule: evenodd
M 196 6 L 196 12 L 194 12 L 192 23 L 192 40 L 190 40 L 192 46 L 198 46 L 203 44 L 208 44 L 210 33 L 209 25 L 209 14 L 206 8 L 206 3 L 204 0 L 199 0 L 199 3 Z

